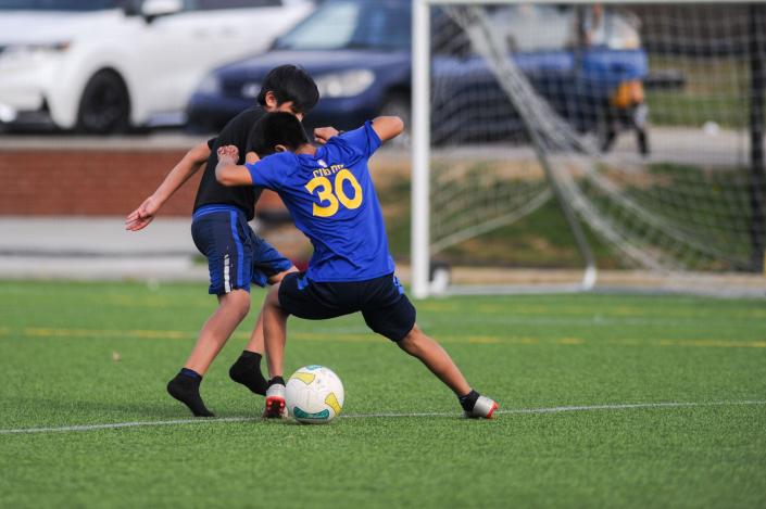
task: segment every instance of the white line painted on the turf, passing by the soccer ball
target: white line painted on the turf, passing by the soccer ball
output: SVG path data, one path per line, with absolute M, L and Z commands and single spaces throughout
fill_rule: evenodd
M 737 405 L 766 405 L 766 400 L 741 400 L 741 402 L 668 402 L 668 403 L 630 403 L 610 405 L 580 405 L 550 408 L 512 408 L 507 410 L 497 410 L 494 413 L 562 413 L 567 411 L 597 411 L 597 410 L 631 410 L 639 408 L 685 408 L 685 407 L 717 407 Z M 413 417 L 460 417 L 454 412 L 381 412 L 381 413 L 346 413 L 342 419 L 369 419 L 369 418 L 413 418 Z M 215 424 L 221 422 L 250 422 L 260 421 L 256 417 L 222 417 L 212 419 L 175 419 L 168 421 L 134 421 L 134 422 L 112 422 L 108 424 L 80 424 L 52 428 L 18 428 L 0 430 L 0 435 L 29 434 L 29 433 L 61 433 L 68 431 L 98 431 L 116 430 L 121 428 L 141 428 L 156 425 L 181 425 L 181 424 Z

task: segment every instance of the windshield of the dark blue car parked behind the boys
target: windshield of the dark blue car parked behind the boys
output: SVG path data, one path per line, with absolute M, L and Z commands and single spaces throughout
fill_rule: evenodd
M 329 1 L 274 44 L 280 50 L 409 49 L 410 2 Z

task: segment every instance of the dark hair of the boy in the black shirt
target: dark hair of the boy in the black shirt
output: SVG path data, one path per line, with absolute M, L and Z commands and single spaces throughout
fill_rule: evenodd
M 314 78 L 297 65 L 280 65 L 268 72 L 258 94 L 258 103 L 266 105 L 266 93 L 272 92 L 277 104 L 292 101 L 294 113 L 307 113 L 319 100 Z

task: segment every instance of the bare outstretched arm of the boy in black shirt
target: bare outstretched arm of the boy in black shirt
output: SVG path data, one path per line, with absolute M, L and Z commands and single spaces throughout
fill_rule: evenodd
M 125 229 L 138 231 L 146 228 L 173 193 L 180 189 L 208 162 L 208 157 L 210 157 L 208 142 L 202 142 L 187 152 L 167 174 L 156 191 L 127 215 Z

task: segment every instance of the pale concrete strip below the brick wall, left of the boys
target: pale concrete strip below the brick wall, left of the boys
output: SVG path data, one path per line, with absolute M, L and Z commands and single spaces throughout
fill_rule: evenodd
M 206 281 L 190 224 L 131 232 L 122 217 L 0 217 L 0 279 Z

